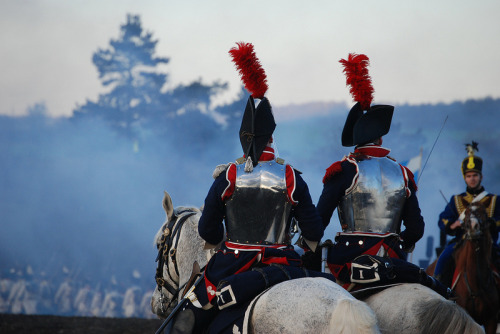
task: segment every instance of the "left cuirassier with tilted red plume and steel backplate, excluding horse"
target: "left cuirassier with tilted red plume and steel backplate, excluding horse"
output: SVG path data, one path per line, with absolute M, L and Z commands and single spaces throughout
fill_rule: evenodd
M 239 132 L 244 156 L 215 172 L 198 230 L 208 247 L 219 244 L 224 232 L 226 240 L 174 319 L 175 334 L 201 333 L 218 312 L 226 312 L 228 323 L 212 324 L 211 330 L 233 332 L 235 325 L 243 325 L 243 317 L 233 310 L 269 286 L 306 276 L 334 281 L 331 275 L 302 268 L 291 245 L 292 217 L 301 229 L 303 247 L 314 249 L 323 228 L 300 172 L 275 155 L 276 124 L 253 45 L 238 43 L 230 54 L 252 94 Z

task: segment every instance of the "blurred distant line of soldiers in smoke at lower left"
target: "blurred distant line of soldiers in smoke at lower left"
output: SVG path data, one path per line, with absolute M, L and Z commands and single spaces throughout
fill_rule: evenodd
M 139 285 L 93 288 L 78 279 L 54 282 L 23 270 L 0 275 L 0 313 L 155 318 L 151 294 Z

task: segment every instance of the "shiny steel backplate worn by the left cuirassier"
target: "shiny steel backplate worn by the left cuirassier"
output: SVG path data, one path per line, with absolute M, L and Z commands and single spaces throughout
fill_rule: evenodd
M 259 162 L 251 173 L 236 165 L 234 193 L 226 201 L 227 240 L 246 244 L 289 244 L 291 203 L 285 165 Z

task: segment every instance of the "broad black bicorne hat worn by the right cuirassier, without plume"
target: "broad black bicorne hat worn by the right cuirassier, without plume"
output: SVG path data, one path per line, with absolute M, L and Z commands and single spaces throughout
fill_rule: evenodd
M 365 113 L 361 104 L 356 103 L 349 114 L 342 130 L 342 146 L 356 146 L 380 138 L 391 128 L 394 107 L 374 105 Z

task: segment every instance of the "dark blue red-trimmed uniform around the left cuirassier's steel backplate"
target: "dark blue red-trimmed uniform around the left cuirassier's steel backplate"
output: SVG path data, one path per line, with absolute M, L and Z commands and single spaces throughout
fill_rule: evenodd
M 274 153 L 268 148 L 260 161 L 271 159 L 274 159 Z M 323 225 L 312 203 L 306 182 L 290 165 L 286 165 L 285 177 L 288 200 L 293 205 L 292 216 L 297 219 L 302 236 L 310 241 L 319 242 L 323 237 Z M 198 231 L 209 244 L 216 245 L 224 238 L 225 201 L 231 198 L 235 180 L 235 165 L 229 164 L 227 169 L 215 178 L 205 199 Z M 273 263 L 286 266 L 302 264 L 299 254 L 292 245 L 263 246 L 225 242 L 205 269 L 205 286 L 209 302 L 212 302 L 217 285 L 224 278 L 245 272 L 254 266 Z

